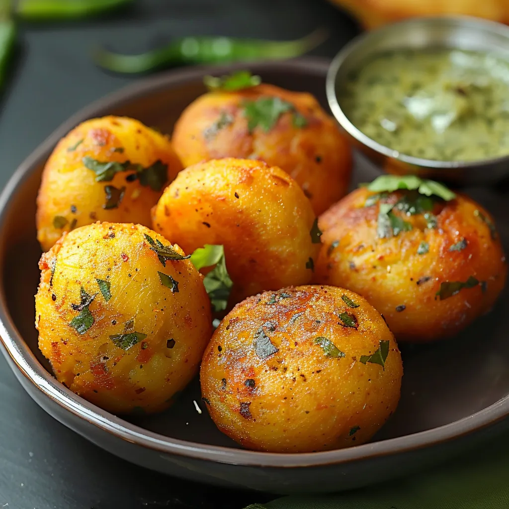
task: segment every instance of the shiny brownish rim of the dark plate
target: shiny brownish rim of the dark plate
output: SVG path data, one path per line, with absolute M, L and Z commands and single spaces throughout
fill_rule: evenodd
M 287 62 L 258 63 L 206 68 L 188 68 L 170 71 L 155 77 L 137 81 L 126 88 L 109 94 L 82 108 L 70 119 L 56 129 L 29 157 L 17 168 L 3 192 L 0 194 L 0 239 L 5 235 L 6 208 L 11 195 L 15 193 L 25 178 L 45 161 L 58 140 L 79 122 L 106 114 L 107 109 L 118 107 L 127 100 L 143 96 L 149 92 L 160 90 L 186 81 L 196 81 L 206 73 L 226 73 L 233 68 L 249 67 L 254 72 L 263 70 L 282 71 L 303 70 L 311 74 L 325 76 L 329 61 L 319 58 L 302 58 Z M 0 254 L 3 257 L 3 254 Z M 0 263 L 3 260 L 0 259 Z M 0 345 L 2 351 L 16 375 L 24 376 L 34 384 L 46 397 L 53 400 L 63 409 L 123 440 L 142 447 L 151 448 L 170 455 L 208 460 L 212 462 L 234 465 L 263 467 L 307 467 L 331 464 L 344 464 L 378 456 L 395 455 L 442 442 L 460 438 L 494 425 L 509 416 L 509 394 L 489 407 L 464 417 L 448 425 L 411 435 L 391 438 L 379 442 L 367 443 L 346 449 L 325 451 L 322 453 L 277 454 L 263 453 L 217 445 L 200 444 L 185 440 L 166 437 L 145 430 L 120 417 L 112 415 L 99 407 L 80 398 L 60 382 L 53 378 L 39 363 L 32 351 L 27 347 L 16 329 L 6 306 L 3 275 L 0 276 Z

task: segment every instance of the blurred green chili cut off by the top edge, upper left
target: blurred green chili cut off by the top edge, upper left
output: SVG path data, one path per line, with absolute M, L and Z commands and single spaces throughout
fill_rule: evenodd
M 18 0 L 14 14 L 29 21 L 75 19 L 110 11 L 133 0 Z

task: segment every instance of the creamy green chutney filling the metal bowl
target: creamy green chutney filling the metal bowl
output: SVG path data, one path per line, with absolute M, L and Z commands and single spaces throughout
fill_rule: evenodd
M 441 161 L 509 155 L 509 62 L 480 51 L 398 50 L 351 73 L 350 122 L 400 154 Z

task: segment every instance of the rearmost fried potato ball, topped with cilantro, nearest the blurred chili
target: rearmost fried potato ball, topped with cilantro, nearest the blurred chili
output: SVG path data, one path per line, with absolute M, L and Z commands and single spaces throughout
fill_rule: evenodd
M 315 214 L 347 192 L 350 148 L 307 93 L 261 84 L 205 94 L 184 110 L 172 141 L 184 166 L 222 157 L 279 166 L 302 187 Z

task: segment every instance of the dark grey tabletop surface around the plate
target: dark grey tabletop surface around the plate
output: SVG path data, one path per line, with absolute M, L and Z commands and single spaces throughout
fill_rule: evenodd
M 0 186 L 77 109 L 135 79 L 95 68 L 94 45 L 137 51 L 200 34 L 286 39 L 318 26 L 331 31 L 314 51 L 322 56 L 358 32 L 326 0 L 138 0 L 100 20 L 21 25 L 0 99 Z M 110 456 L 41 410 L 0 358 L 0 509 L 235 508 L 269 498 L 184 483 Z

